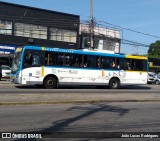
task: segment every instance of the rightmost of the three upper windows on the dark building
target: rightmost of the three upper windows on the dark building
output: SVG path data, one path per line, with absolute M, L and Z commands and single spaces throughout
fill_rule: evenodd
M 50 28 L 50 40 L 76 43 L 77 33 L 71 30 Z

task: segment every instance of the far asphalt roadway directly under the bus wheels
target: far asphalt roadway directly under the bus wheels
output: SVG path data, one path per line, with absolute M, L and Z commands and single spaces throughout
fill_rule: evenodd
M 125 92 L 159 92 L 160 90 L 160 85 L 155 85 L 155 84 L 149 84 L 149 85 L 128 85 L 128 86 L 121 86 L 120 89 L 109 89 L 107 87 L 95 87 L 95 86 L 61 86 L 58 89 L 45 89 L 42 86 L 31 86 L 31 85 L 20 85 L 20 84 L 14 84 L 9 81 L 9 79 L 2 79 L 0 81 L 0 93 L 20 93 L 20 92 L 38 92 L 38 93 L 43 93 L 43 92 L 56 92 L 56 93 L 74 93 L 74 92 L 81 92 L 81 93 L 104 93 L 104 92 L 120 92 L 120 93 L 125 93 Z

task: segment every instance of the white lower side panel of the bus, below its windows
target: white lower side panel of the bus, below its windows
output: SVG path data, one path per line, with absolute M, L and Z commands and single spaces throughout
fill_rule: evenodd
M 41 76 L 41 68 L 33 67 L 27 68 L 19 73 L 18 79 L 15 79 L 15 83 L 19 84 L 43 84 L 44 78 L 47 75 L 54 74 L 58 77 L 59 84 L 72 83 L 81 85 L 108 85 L 109 80 L 113 77 L 120 79 L 121 84 L 146 84 L 146 72 L 131 72 L 131 71 L 108 71 L 104 70 L 87 70 L 87 69 L 57 69 L 57 68 L 45 68 L 44 76 Z M 139 77 L 137 77 L 139 74 Z M 141 77 L 140 77 L 141 76 Z

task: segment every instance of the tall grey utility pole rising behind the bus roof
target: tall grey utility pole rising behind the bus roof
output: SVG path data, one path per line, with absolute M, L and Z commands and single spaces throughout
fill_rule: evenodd
M 90 0 L 90 46 L 89 46 L 89 49 L 94 49 L 93 35 L 94 35 L 93 4 L 92 4 L 92 0 Z

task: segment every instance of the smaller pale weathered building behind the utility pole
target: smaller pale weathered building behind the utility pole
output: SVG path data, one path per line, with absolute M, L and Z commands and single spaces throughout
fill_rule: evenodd
M 120 53 L 120 31 L 105 27 L 94 27 L 94 49 Z M 89 24 L 80 24 L 80 43 L 82 48 L 88 48 L 90 43 Z

